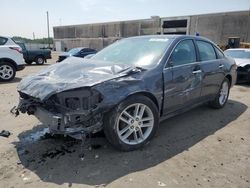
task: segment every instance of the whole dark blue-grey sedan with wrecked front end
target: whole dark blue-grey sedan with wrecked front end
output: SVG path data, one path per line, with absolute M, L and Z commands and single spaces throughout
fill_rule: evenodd
M 104 130 L 113 146 L 130 151 L 146 144 L 161 120 L 204 103 L 224 107 L 235 81 L 234 60 L 208 39 L 132 37 L 23 79 L 16 110 L 54 134 Z

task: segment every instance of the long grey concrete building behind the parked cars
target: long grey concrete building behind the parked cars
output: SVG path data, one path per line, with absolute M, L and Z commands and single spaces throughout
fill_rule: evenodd
M 57 51 L 81 46 L 100 50 L 120 38 L 151 34 L 199 33 L 223 45 L 228 37 L 234 36 L 240 37 L 242 42 L 250 42 L 250 12 L 163 18 L 152 16 L 142 20 L 56 26 L 53 31 Z

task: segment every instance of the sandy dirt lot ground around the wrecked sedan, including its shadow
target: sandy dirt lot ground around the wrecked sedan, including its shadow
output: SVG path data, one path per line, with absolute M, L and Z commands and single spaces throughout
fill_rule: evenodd
M 0 131 L 12 133 L 0 137 L 0 187 L 250 187 L 249 86 L 235 86 L 222 110 L 201 106 L 164 121 L 139 151 L 116 151 L 96 135 L 81 160 L 79 142 L 43 136 L 34 117 L 9 113 L 18 82 L 49 64 L 0 84 Z

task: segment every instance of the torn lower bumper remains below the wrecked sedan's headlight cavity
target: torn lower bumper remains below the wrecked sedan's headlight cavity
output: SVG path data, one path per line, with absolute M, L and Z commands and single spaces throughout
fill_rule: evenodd
M 21 104 L 24 104 L 21 102 Z M 52 134 L 61 134 L 65 136 L 71 136 L 76 139 L 82 139 L 82 134 L 92 134 L 102 130 L 102 114 L 84 115 L 84 114 L 54 114 L 44 109 L 43 107 L 32 107 L 32 113 L 28 111 L 31 106 L 13 107 L 11 113 L 15 116 L 19 115 L 19 111 L 22 113 L 28 113 L 34 115 L 42 124 L 48 126 Z M 75 121 L 76 118 L 85 119 L 85 121 Z M 74 119 L 74 121 L 72 121 Z

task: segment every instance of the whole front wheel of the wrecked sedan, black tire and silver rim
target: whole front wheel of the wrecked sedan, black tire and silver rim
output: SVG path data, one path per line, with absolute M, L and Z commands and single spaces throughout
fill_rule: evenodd
M 136 109 L 138 116 L 135 118 Z M 127 114 L 130 114 L 130 117 Z M 144 121 L 141 121 L 143 119 Z M 152 100 L 142 95 L 134 95 L 105 114 L 104 133 L 116 149 L 132 151 L 149 142 L 155 135 L 158 124 L 159 113 Z

